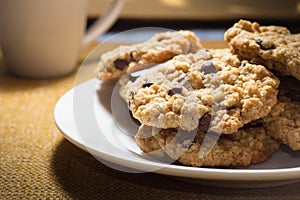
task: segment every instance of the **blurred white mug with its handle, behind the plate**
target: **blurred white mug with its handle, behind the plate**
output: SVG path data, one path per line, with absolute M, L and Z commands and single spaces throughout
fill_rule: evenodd
M 0 47 L 8 71 L 48 78 L 76 69 L 80 51 L 107 31 L 124 0 L 112 0 L 84 33 L 88 0 L 1 0 Z

